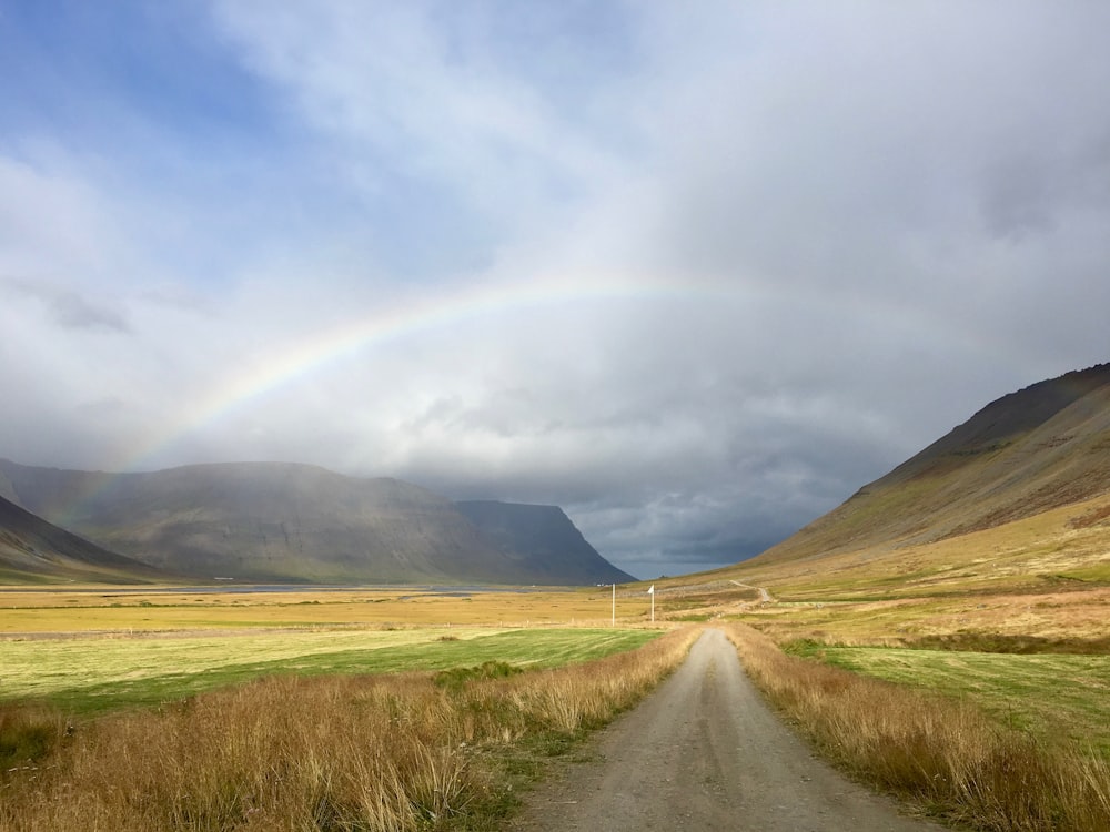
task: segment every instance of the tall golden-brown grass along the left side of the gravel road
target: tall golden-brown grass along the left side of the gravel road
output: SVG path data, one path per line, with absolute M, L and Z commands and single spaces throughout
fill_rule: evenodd
M 483 828 L 511 785 L 500 754 L 610 719 L 677 666 L 693 635 L 503 679 L 272 677 L 69 733 L 57 718 L 12 718 L 10 734 L 39 726 L 53 748 L 0 773 L 0 830 Z

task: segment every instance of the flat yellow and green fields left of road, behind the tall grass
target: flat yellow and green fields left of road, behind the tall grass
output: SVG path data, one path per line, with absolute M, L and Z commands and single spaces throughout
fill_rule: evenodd
M 635 620 L 645 603 L 624 593 L 617 608 Z M 153 706 L 275 673 L 441 670 L 492 660 L 555 667 L 657 635 L 608 629 L 612 596 L 601 589 L 68 588 L 8 590 L 0 610 L 0 701 L 38 700 L 70 713 Z

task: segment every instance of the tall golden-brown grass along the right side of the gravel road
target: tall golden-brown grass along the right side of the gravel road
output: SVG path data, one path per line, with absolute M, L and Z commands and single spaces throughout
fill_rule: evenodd
M 1110 763 L 1001 728 L 969 704 L 783 653 L 731 625 L 755 683 L 861 779 L 991 832 L 1104 832 Z

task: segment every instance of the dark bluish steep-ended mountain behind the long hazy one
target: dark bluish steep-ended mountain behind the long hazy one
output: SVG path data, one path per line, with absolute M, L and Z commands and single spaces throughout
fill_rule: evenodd
M 598 555 L 558 506 L 466 500 L 455 507 L 506 556 L 523 558 L 552 581 L 566 575 L 574 575 L 576 584 L 636 580 Z

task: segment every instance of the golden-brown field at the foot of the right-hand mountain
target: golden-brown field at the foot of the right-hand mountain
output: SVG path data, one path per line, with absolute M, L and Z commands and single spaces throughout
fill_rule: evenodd
M 738 618 L 779 641 L 1000 636 L 1110 652 L 1108 517 L 1103 496 L 929 545 L 741 562 L 662 581 L 656 601 L 670 618 Z

